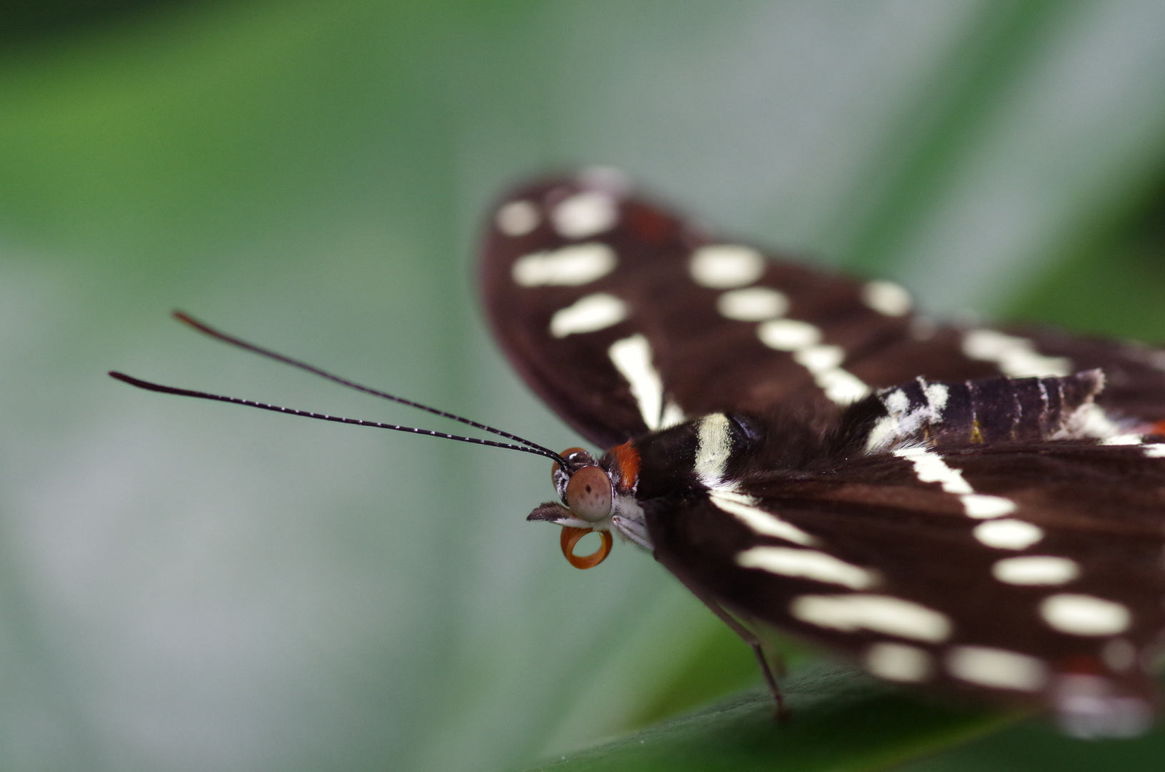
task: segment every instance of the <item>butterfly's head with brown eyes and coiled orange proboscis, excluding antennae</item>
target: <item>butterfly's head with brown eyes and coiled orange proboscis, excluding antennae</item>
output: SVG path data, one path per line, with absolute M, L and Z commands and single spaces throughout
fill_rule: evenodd
M 613 532 L 650 548 L 643 511 L 635 500 L 640 458 L 635 445 L 623 443 L 598 459 L 581 448 L 569 448 L 560 455 L 565 463 L 555 462 L 551 480 L 562 503 L 543 504 L 527 519 L 563 527 L 563 555 L 571 566 L 593 568 L 606 560 L 614 543 Z M 599 549 L 576 555 L 574 546 L 589 533 L 602 540 Z

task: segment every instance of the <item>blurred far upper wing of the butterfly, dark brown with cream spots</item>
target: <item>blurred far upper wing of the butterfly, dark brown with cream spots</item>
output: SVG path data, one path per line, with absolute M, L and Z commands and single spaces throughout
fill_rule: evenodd
M 486 310 L 527 383 L 609 448 L 684 416 L 797 402 L 833 416 L 880 387 L 1101 367 L 1099 402 L 1165 419 L 1165 353 L 1054 330 L 918 320 L 904 289 L 718 238 L 614 173 L 507 196 L 485 238 Z

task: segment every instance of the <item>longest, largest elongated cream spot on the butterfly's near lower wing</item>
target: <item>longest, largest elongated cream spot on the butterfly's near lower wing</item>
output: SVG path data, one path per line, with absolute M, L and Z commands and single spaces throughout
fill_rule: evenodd
M 941 643 L 951 636 L 945 613 L 889 595 L 802 595 L 789 612 L 812 625 L 842 632 L 871 632 Z

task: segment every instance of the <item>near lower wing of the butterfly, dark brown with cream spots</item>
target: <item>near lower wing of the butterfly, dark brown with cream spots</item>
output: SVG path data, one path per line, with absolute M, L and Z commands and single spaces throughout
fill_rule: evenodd
M 1165 445 L 913 448 L 649 506 L 659 560 L 876 675 L 1135 734 L 1165 630 Z

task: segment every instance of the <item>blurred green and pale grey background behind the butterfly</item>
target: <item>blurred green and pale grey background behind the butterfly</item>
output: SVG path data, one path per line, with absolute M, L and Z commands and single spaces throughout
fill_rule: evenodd
M 5 3 L 0 767 L 522 769 L 755 685 L 649 557 L 523 521 L 537 459 L 104 373 L 440 428 L 182 308 L 577 444 L 471 253 L 501 188 L 589 163 L 939 314 L 1165 339 L 1163 41 L 1150 0 Z M 911 769 L 1162 759 L 1035 722 Z

